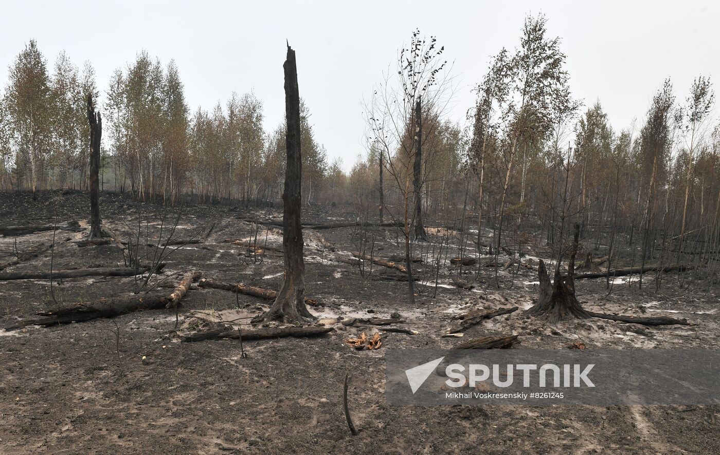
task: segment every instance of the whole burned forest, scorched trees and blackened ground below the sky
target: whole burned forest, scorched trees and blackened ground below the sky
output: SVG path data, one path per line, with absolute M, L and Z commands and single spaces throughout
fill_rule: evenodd
M 307 29 L 229 96 L 230 63 L 152 38 L 78 68 L 24 37 L 0 454 L 720 454 L 713 67 L 643 76 L 615 120 L 552 14 L 507 19 L 492 57 L 403 21 L 352 99 L 318 96 L 339 63 Z

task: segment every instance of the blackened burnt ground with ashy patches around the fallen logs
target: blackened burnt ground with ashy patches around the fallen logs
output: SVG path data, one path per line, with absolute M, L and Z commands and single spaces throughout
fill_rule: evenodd
M 82 221 L 89 213 L 86 193 L 0 193 L 4 226 Z M 248 219 L 282 221 L 277 208 L 189 205 L 166 208 L 135 201 L 117 193 L 101 197 L 103 221 L 120 236 L 141 242 L 163 239 L 179 221 L 174 239 L 199 238 L 208 224 L 214 229 L 202 244 L 168 247 L 166 269 L 151 277 L 179 280 L 186 270 L 204 277 L 245 282 L 277 289 L 282 280 L 282 255 L 269 250 L 249 254 L 222 242 L 253 236 Z M 138 221 L 139 220 L 139 221 Z M 344 208 L 308 207 L 303 220 L 340 223 L 354 220 Z M 429 224 L 429 223 L 428 223 Z M 278 246 L 276 226 L 267 245 Z M 718 286 L 688 274 L 665 274 L 658 292 L 655 275 L 645 290 L 626 282 L 608 294 L 605 280 L 576 284 L 582 305 L 603 313 L 688 318 L 696 326 L 640 327 L 600 319 L 549 326 L 523 316 L 537 295 L 537 258 L 542 250 L 521 259 L 529 267 L 500 270 L 503 289 L 495 287 L 494 269 L 464 267 L 462 280 L 473 290 L 451 285 L 457 267 L 441 265 L 434 286 L 432 261 L 415 265 L 431 282 L 416 285 L 415 305 L 408 283 L 393 279 L 384 267 L 366 265 L 366 276 L 354 265 L 331 260 L 374 239 L 379 257 L 402 254 L 392 227 L 357 227 L 305 231 L 306 295 L 320 306 L 320 318 L 388 317 L 400 313 L 420 334 L 382 333 L 382 346 L 358 351 L 344 341 L 363 328 L 335 326 L 336 331 L 312 339 L 246 341 L 242 357 L 238 340 L 183 343 L 172 310 L 140 311 L 114 319 L 64 326 L 29 326 L 0 331 L 0 453 L 2 454 L 228 454 L 228 453 L 482 453 L 482 454 L 720 454 L 720 423 L 716 409 L 697 406 L 446 406 L 392 407 L 384 397 L 384 349 L 445 349 L 470 338 L 517 334 L 513 349 L 565 349 L 582 342 L 587 349 L 696 348 L 717 349 Z M 56 231 L 55 247 L 5 271 L 66 270 L 123 265 L 114 244 L 78 247 L 87 230 Z M 258 233 L 264 247 L 266 231 Z M 323 249 L 319 237 L 336 252 Z M 0 237 L 0 267 L 17 252 L 50 245 L 53 231 Z M 440 236 L 429 236 L 439 249 Z M 147 240 L 147 242 L 145 242 Z M 450 237 L 445 259 L 457 255 L 459 240 Z M 446 244 L 446 242 L 445 242 Z M 369 247 L 369 246 L 368 246 Z M 425 247 L 432 251 L 433 247 Z M 474 246 L 468 252 L 472 255 Z M 146 248 L 153 254 L 153 249 Z M 420 254 L 420 253 L 418 253 Z M 350 256 L 346 255 L 346 258 Z M 509 258 L 505 258 L 509 259 Z M 480 262 L 487 262 L 480 257 Z M 518 270 L 513 278 L 511 271 Z M 636 277 L 635 277 L 636 279 Z M 130 295 L 138 277 L 86 277 L 62 282 L 14 280 L 0 282 L 0 326 L 25 318 L 55 303 L 90 301 Z M 510 282 L 513 283 L 510 287 Z M 149 287 L 149 286 L 148 286 Z M 158 288 L 155 288 L 157 290 Z M 167 288 L 161 288 L 170 290 Z M 433 293 L 436 295 L 433 298 Z M 179 329 L 192 328 L 202 315 L 223 311 L 257 314 L 269 302 L 225 290 L 189 290 L 177 315 Z M 453 317 L 474 308 L 518 305 L 521 311 L 484 321 L 463 339 L 441 337 Z M 116 324 L 117 323 L 117 326 Z M 633 331 L 633 330 L 636 331 Z M 640 333 L 638 333 L 640 332 Z M 644 332 L 644 334 L 642 333 Z M 359 430 L 348 431 L 343 416 L 343 377 L 351 378 L 349 407 Z

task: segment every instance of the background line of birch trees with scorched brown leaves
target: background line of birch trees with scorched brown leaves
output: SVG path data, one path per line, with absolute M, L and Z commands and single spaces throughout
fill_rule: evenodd
M 348 173 L 328 162 L 301 102 L 302 203 L 346 204 L 406 226 L 422 226 L 423 213 L 472 216 L 479 249 L 480 237 L 490 237 L 483 227 L 497 250 L 503 229 L 534 218 L 548 244 L 567 242 L 577 221 L 596 244 L 603 232 L 613 233 L 611 244 L 618 229 L 637 232 L 643 262 L 659 245 L 678 260 L 716 254 L 720 124 L 710 78 L 698 75 L 685 95 L 659 78 L 644 119 L 615 129 L 600 101 L 583 107 L 572 96 L 559 37 L 547 35 L 546 22 L 526 17 L 518 42 L 477 75 L 476 104 L 461 122 L 449 118 L 454 75 L 445 49 L 415 30 L 397 71 L 379 72 L 362 100 L 366 155 Z M 89 95 L 102 99 L 107 125 L 104 189 L 168 204 L 184 194 L 207 202 L 281 198 L 284 122 L 265 131 L 253 93 L 191 111 L 174 62 L 143 51 L 114 71 L 100 97 L 90 63 L 81 71 L 61 52 L 51 71 L 33 40 L 10 66 L 1 96 L 2 190 L 87 188 Z

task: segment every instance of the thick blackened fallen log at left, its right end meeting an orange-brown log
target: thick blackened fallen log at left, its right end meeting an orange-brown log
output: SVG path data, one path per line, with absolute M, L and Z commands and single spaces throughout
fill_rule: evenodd
M 132 295 L 131 297 L 107 298 L 88 303 L 61 305 L 48 311 L 40 311 L 39 319 L 20 321 L 6 330 L 14 330 L 26 326 L 55 326 L 63 323 L 89 321 L 97 318 L 112 318 L 133 311 L 160 310 L 165 308 L 166 295 Z

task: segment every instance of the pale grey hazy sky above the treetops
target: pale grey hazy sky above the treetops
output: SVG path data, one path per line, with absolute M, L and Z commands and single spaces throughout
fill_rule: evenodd
M 361 98 L 415 27 L 454 60 L 451 115 L 461 121 L 490 55 L 516 46 L 530 12 L 546 14 L 549 34 L 562 38 L 575 96 L 586 105 L 599 98 L 616 129 L 642 119 L 664 78 L 680 99 L 696 75 L 720 75 L 716 1 L 3 0 L 0 84 L 30 38 L 50 67 L 60 50 L 78 66 L 91 60 L 101 91 L 112 70 L 145 49 L 176 61 L 191 111 L 254 91 L 271 130 L 284 115 L 287 38 L 318 142 L 348 169 L 364 152 Z

